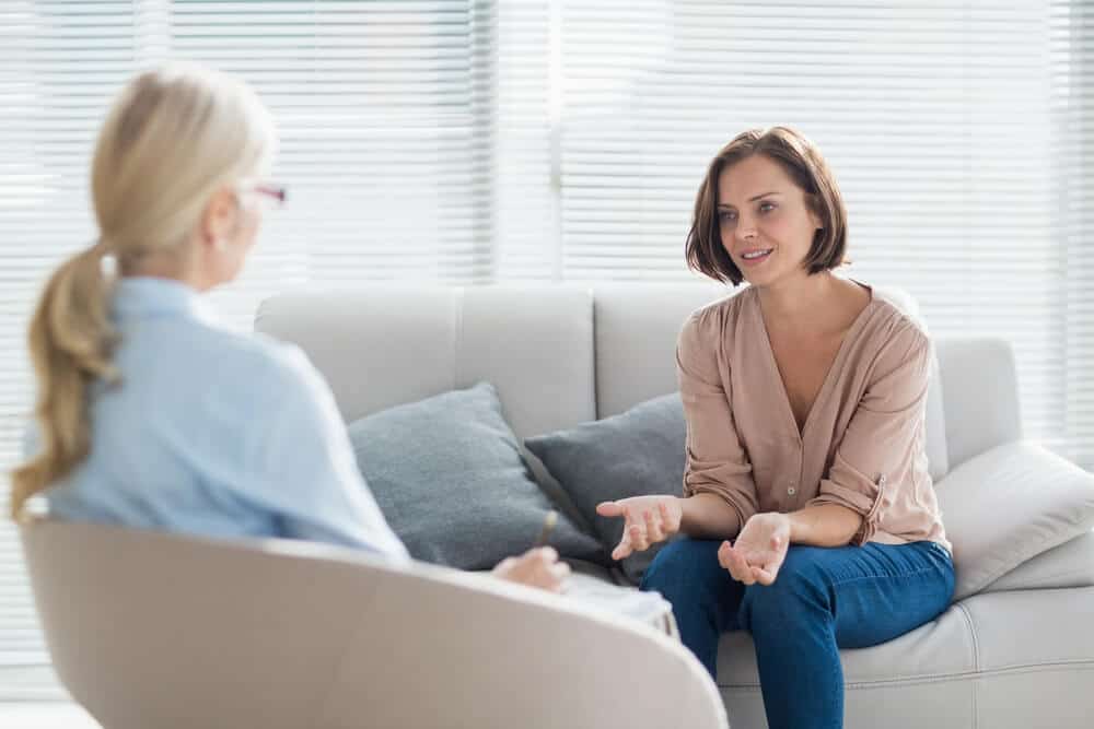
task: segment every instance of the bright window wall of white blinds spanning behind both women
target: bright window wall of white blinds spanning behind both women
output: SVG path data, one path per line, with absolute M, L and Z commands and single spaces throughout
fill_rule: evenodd
M 216 297 L 241 326 L 302 283 L 687 280 L 695 191 L 738 131 L 831 164 L 848 273 L 936 334 L 1017 355 L 1029 436 L 1094 466 L 1090 11 L 957 0 L 0 3 L 0 459 L 31 404 L 27 315 L 94 236 L 94 134 L 187 58 L 272 109 L 288 207 Z M 7 497 L 7 489 L 4 497 Z M 60 697 L 0 526 L 0 701 Z

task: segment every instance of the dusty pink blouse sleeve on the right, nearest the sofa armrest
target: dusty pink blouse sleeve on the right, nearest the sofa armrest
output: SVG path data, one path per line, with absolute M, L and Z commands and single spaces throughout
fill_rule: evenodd
M 828 478 L 806 504 L 838 504 L 862 516 L 851 544 L 870 541 L 893 502 L 892 489 L 916 478 L 912 451 L 922 443 L 930 363 L 931 342 L 917 327 L 893 336 L 875 360 Z

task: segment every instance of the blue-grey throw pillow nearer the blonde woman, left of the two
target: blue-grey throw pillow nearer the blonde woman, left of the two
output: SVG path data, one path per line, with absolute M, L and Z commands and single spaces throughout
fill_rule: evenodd
M 490 568 L 532 548 L 551 508 L 488 383 L 366 415 L 349 437 L 380 509 L 417 560 Z M 596 540 L 563 515 L 548 543 L 565 557 L 603 560 Z

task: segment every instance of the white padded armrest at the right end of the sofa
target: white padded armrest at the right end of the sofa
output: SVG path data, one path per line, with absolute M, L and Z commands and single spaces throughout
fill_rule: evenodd
M 957 571 L 955 599 L 1094 527 L 1094 474 L 1032 443 L 1009 443 L 936 486 Z

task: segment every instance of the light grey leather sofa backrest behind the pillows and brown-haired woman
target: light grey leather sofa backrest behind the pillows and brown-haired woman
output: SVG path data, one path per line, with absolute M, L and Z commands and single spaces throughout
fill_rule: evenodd
M 903 292 L 877 291 L 917 315 Z M 255 325 L 307 353 L 347 421 L 486 379 L 498 388 L 513 430 L 528 437 L 675 391 L 680 325 L 700 306 L 733 294 L 705 283 L 382 284 L 281 294 L 261 304 Z M 941 479 L 998 438 L 1012 438 L 1017 390 L 1005 343 L 969 349 L 965 340 L 935 341 L 940 361 L 946 346 L 953 367 L 947 377 L 935 364 L 928 397 L 927 452 L 931 474 Z M 985 387 L 967 381 L 977 369 L 992 374 L 988 400 L 965 397 Z M 950 386 L 962 388 L 954 408 L 946 401 Z M 954 422 L 947 423 L 951 413 Z M 986 436 L 984 421 L 993 423 Z

